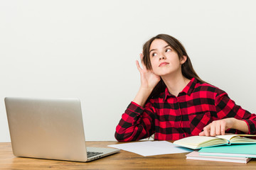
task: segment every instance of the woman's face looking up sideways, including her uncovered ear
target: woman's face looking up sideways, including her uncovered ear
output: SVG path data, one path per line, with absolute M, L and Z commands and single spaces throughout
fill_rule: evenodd
M 154 40 L 149 48 L 152 71 L 158 76 L 180 74 L 181 64 L 186 62 L 186 56 L 180 60 L 178 54 L 164 40 Z

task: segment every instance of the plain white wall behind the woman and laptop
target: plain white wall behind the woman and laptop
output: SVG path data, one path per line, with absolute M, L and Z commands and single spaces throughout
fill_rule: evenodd
M 114 140 L 139 89 L 135 60 L 159 33 L 181 40 L 205 81 L 252 113 L 256 1 L 0 0 L 0 142 L 4 97 L 75 97 L 87 140 Z

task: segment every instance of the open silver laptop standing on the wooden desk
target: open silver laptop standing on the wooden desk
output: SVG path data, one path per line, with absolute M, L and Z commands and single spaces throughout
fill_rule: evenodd
M 16 157 L 89 162 L 119 152 L 86 147 L 77 98 L 5 98 Z

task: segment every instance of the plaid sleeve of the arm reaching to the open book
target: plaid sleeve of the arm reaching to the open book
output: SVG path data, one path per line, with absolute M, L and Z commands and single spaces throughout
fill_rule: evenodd
M 238 120 L 244 120 L 249 129 L 248 134 L 256 134 L 256 115 L 236 105 L 235 101 L 231 100 L 224 91 L 216 96 L 215 106 L 218 118 L 236 118 Z M 239 130 L 232 132 L 241 133 Z

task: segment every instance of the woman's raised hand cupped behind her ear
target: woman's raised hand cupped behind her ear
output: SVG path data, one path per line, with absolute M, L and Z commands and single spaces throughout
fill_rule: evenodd
M 139 55 L 142 61 L 142 53 Z M 153 90 L 156 84 L 159 83 L 161 78 L 154 74 L 151 70 L 146 69 L 145 64 L 142 62 L 142 68 L 139 66 L 138 60 L 136 61 L 137 69 L 141 75 L 141 88 Z

